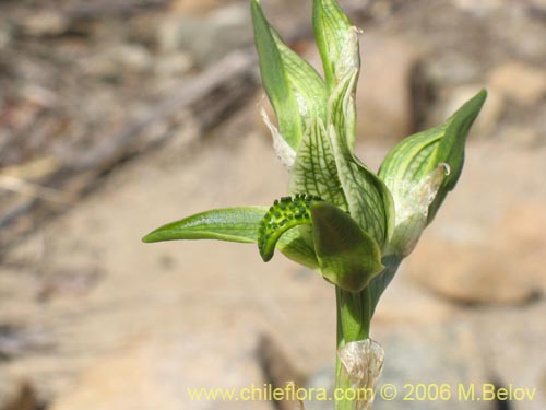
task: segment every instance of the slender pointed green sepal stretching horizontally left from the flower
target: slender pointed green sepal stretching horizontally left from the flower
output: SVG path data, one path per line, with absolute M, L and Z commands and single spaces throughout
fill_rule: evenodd
M 143 242 L 177 239 L 218 239 L 241 243 L 258 242 L 258 229 L 264 207 L 225 208 L 198 213 L 164 225 L 142 238 Z

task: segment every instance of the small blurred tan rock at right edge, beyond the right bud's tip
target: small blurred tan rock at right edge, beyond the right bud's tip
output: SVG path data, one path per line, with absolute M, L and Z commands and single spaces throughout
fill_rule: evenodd
M 492 70 L 488 83 L 507 98 L 522 105 L 538 103 L 546 95 L 544 69 L 509 61 Z

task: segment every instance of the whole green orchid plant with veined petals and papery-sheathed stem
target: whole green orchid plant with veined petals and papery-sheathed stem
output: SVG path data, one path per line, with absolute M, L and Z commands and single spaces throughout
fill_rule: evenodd
M 275 250 L 332 283 L 337 308 L 336 387 L 373 388 L 383 351 L 369 339 L 376 306 L 454 188 L 464 147 L 486 92 L 444 124 L 410 136 L 376 174 L 354 152 L 359 31 L 335 0 L 313 0 L 324 78 L 294 52 L 251 0 L 263 86 L 277 126 L 262 112 L 289 171 L 288 192 L 271 207 L 225 208 L 162 226 L 143 241 L 221 239 Z M 394 96 L 395 97 L 395 96 Z M 337 410 L 371 400 L 337 400 Z

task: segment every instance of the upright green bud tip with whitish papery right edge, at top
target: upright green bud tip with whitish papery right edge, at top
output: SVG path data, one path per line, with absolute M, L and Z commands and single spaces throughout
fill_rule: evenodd
M 312 20 L 324 77 L 329 90 L 332 91 L 345 75 L 347 66 L 359 63 L 358 43 L 357 52 L 352 56 L 347 54 L 348 37 L 355 33 L 336 0 L 313 0 Z

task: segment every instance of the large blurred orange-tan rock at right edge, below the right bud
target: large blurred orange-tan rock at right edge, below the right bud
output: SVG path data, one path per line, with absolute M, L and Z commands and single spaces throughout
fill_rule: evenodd
M 544 204 L 509 210 L 479 242 L 427 237 L 408 259 L 412 278 L 466 303 L 523 303 L 546 289 Z

